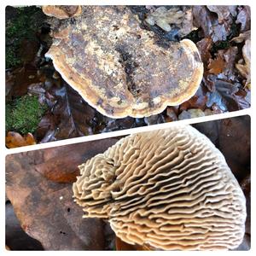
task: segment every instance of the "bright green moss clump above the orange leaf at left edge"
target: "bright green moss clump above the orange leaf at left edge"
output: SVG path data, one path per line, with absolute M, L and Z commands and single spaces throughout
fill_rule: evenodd
M 22 96 L 6 105 L 6 131 L 18 131 L 21 134 L 33 133 L 38 128 L 46 106 L 38 102 L 37 96 Z

